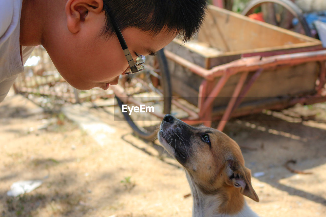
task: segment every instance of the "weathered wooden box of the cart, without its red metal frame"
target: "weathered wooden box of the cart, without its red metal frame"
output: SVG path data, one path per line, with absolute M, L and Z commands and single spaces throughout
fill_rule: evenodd
M 196 65 L 211 69 L 244 56 L 267 57 L 316 51 L 322 49 L 322 46 L 317 39 L 210 6 L 206 21 L 196 39 L 189 43 L 175 39 L 166 49 Z M 198 106 L 199 87 L 204 78 L 173 60 L 168 62 L 173 94 Z M 243 102 L 314 94 L 319 73 L 320 63 L 317 61 L 264 70 Z M 249 72 L 247 81 L 253 74 L 254 72 Z M 241 73 L 238 73 L 230 77 L 215 99 L 214 108 L 227 106 L 240 76 Z M 219 79 L 220 77 L 216 77 L 213 83 L 216 84 Z

